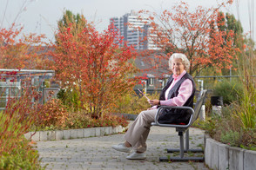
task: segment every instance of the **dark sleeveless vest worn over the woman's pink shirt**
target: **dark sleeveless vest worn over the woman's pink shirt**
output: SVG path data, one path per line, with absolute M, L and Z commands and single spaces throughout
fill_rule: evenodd
M 172 99 L 173 97 L 176 97 L 179 95 L 179 88 L 182 82 L 185 81 L 185 79 L 189 79 L 192 81 L 192 95 L 188 98 L 187 101 L 185 101 L 185 104 L 183 106 L 191 107 L 193 108 L 193 98 L 196 91 L 196 85 L 193 81 L 193 78 L 188 73 L 185 73 L 179 80 L 179 82 L 176 82 L 176 84 L 172 87 L 170 90 L 167 99 Z M 169 78 L 165 88 L 163 88 L 162 93 L 160 94 L 159 100 L 165 101 L 165 91 L 167 88 L 170 87 L 171 83 L 173 81 L 172 75 Z M 189 121 L 191 114 L 188 113 L 186 110 L 178 110 L 178 109 L 165 109 L 159 116 L 158 122 L 159 123 L 185 123 L 187 124 Z

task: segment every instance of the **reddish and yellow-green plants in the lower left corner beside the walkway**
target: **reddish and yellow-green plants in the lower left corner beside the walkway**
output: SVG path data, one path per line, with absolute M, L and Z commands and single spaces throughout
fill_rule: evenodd
M 37 151 L 24 138 L 37 118 L 37 103 L 30 90 L 20 99 L 8 101 L 0 112 L 0 169 L 42 169 Z

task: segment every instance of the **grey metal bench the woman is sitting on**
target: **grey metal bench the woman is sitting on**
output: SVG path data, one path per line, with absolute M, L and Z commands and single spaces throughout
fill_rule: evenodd
M 202 108 L 202 105 L 205 101 L 205 95 L 207 93 L 207 90 L 202 90 L 199 94 L 198 100 L 196 102 L 195 108 L 191 107 L 169 107 L 169 106 L 161 106 L 158 108 L 158 112 L 155 116 L 155 122 L 152 122 L 152 126 L 159 126 L 159 127 L 176 127 L 176 132 L 179 134 L 179 149 L 167 149 L 167 153 L 173 153 L 173 152 L 179 152 L 179 157 L 160 157 L 160 161 L 170 161 L 170 160 L 176 160 L 176 161 L 186 161 L 186 160 L 197 160 L 197 161 L 203 161 L 204 157 L 185 157 L 184 153 L 192 152 L 192 153 L 203 153 L 204 151 L 202 149 L 190 149 L 189 148 L 189 127 L 192 126 L 192 123 L 196 121 L 199 117 L 200 110 Z M 165 108 L 178 108 L 178 109 L 186 109 L 189 112 L 192 113 L 190 120 L 188 124 L 161 124 L 158 122 L 158 116 L 161 113 L 161 111 Z M 185 134 L 185 148 L 184 148 L 184 134 Z

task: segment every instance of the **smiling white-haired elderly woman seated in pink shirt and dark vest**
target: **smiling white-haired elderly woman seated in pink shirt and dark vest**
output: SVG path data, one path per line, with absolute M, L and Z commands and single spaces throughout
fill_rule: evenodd
M 190 67 L 190 62 L 184 54 L 174 53 L 169 59 L 169 68 L 172 75 L 169 78 L 165 88 L 163 88 L 159 99 L 149 100 L 152 108 L 142 111 L 137 119 L 131 124 L 125 134 L 125 142 L 112 146 L 113 149 L 131 153 L 127 156 L 129 160 L 145 159 L 146 139 L 150 132 L 151 123 L 154 121 L 159 106 L 193 106 L 193 96 L 195 93 L 195 83 L 192 76 L 185 70 Z M 187 123 L 190 114 L 179 110 L 165 110 L 159 116 L 161 123 Z

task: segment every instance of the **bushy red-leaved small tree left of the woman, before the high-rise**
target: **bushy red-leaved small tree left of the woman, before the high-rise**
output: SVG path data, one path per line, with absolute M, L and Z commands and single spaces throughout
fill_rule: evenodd
M 52 46 L 57 79 L 66 90 L 77 91 L 78 107 L 94 117 L 107 112 L 135 85 L 131 61 L 136 54 L 114 43 L 118 34 L 113 30 L 111 25 L 99 34 L 81 16 L 81 22 L 58 30 L 57 43 Z

